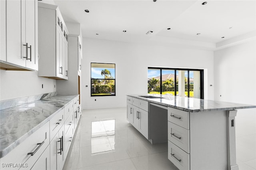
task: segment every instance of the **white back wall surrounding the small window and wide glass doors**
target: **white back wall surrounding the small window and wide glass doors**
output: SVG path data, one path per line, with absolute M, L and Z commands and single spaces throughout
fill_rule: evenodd
M 116 64 L 116 96 L 90 97 L 91 62 Z M 148 66 L 206 69 L 204 98 L 214 99 L 213 51 L 83 38 L 83 109 L 125 107 L 126 94 L 147 93 Z

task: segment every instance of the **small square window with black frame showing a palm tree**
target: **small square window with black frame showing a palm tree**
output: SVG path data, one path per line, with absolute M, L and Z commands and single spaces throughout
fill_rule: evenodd
M 91 63 L 91 96 L 116 95 L 116 65 Z

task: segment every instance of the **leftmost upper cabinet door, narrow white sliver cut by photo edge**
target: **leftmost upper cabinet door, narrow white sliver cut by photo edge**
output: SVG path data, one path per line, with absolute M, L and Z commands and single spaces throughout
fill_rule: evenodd
M 6 0 L 0 0 L 0 60 L 6 61 Z

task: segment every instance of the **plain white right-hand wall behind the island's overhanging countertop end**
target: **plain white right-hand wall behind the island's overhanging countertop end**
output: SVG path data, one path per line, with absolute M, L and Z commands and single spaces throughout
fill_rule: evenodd
M 256 105 L 255 76 L 255 40 L 214 52 L 215 100 Z

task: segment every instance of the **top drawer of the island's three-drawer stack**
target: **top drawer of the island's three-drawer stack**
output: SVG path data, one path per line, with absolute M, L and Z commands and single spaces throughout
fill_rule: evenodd
M 168 121 L 189 129 L 189 112 L 168 107 Z

